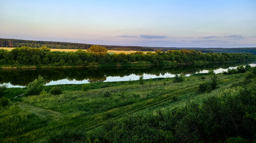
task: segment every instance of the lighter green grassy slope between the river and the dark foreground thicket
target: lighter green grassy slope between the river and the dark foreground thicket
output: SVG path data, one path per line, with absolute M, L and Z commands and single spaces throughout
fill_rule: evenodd
M 81 91 L 81 84 L 58 85 L 61 95 L 14 96 L 21 88 L 9 88 L 7 95 L 11 105 L 1 108 L 0 142 L 49 142 L 48 136 L 61 130 L 73 129 L 97 139 L 102 126 L 130 115 L 142 115 L 159 109 L 172 110 L 194 101 L 200 103 L 209 97 L 233 88 L 244 79 L 246 73 L 217 74 L 218 88 L 210 93 L 198 93 L 198 85 L 210 80 L 207 74 L 194 74 L 185 81 L 175 83 L 174 78 L 156 78 L 139 81 L 90 83 L 89 90 Z M 201 79 L 204 76 L 205 79 Z M 53 86 L 44 86 L 49 92 Z M 110 92 L 106 96 L 106 92 Z M 18 111 L 16 111 L 18 110 Z M 19 120 L 15 120 L 19 118 Z M 6 124 L 6 125 L 5 125 Z M 93 141 L 93 140 L 92 140 Z

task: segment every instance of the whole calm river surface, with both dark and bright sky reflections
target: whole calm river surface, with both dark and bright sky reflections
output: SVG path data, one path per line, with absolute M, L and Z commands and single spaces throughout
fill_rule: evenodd
M 215 65 L 182 65 L 171 67 L 141 67 L 141 68 L 90 68 L 90 69 L 18 69 L 0 70 L 0 84 L 8 87 L 24 87 L 33 81 L 38 75 L 46 80 L 46 85 L 55 84 L 81 84 L 92 82 L 128 81 L 137 80 L 139 75 L 144 79 L 156 77 L 174 77 L 183 73 L 190 76 L 194 73 L 207 73 L 214 70 L 216 73 L 227 71 L 228 68 L 236 68 L 240 65 L 256 63 L 215 64 Z

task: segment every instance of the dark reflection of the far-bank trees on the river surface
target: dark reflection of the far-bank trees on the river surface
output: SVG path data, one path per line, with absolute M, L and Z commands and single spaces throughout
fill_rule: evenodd
M 252 63 L 252 62 L 251 62 Z M 251 64 L 247 63 L 247 64 Z M 245 63 L 244 63 L 245 64 Z M 102 82 L 108 76 L 128 76 L 130 74 L 143 75 L 153 74 L 159 76 L 166 73 L 171 74 L 193 74 L 202 70 L 216 70 L 219 68 L 227 69 L 242 65 L 237 64 L 208 64 L 208 65 L 182 65 L 182 66 L 168 66 L 168 67 L 134 67 L 134 68 L 74 68 L 74 69 L 18 69 L 18 70 L 0 70 L 0 84 L 10 82 L 12 85 L 25 86 L 42 75 L 47 83 L 61 79 L 68 80 L 85 80 L 89 82 Z

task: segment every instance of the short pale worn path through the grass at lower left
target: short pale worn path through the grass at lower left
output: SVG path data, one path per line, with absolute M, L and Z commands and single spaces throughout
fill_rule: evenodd
M 15 102 L 20 108 L 34 113 L 36 114 L 38 117 L 40 118 L 46 118 L 46 119 L 50 119 L 50 120 L 56 120 L 59 121 L 61 119 L 64 119 L 64 114 L 57 112 L 57 111 L 53 111 L 50 109 L 44 109 L 41 107 L 36 107 L 36 106 L 32 106 L 32 105 L 28 105 L 25 104 L 23 102 Z

